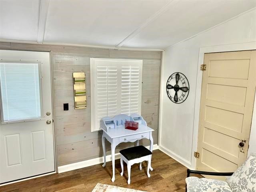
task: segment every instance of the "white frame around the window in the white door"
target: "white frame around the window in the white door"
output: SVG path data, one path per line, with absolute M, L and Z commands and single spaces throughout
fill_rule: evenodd
M 19 123 L 19 122 L 29 122 L 29 121 L 38 121 L 42 120 L 43 118 L 43 104 L 42 104 L 42 74 L 41 74 L 41 64 L 43 63 L 41 60 L 1 60 L 1 63 L 24 63 L 24 64 L 38 64 L 38 81 L 39 81 L 39 96 L 40 96 L 40 114 L 39 118 L 29 118 L 29 119 L 20 119 L 20 120 L 11 120 L 11 121 L 4 121 L 4 111 L 3 111 L 3 103 L 2 103 L 2 86 L 1 86 L 1 79 L 0 79 L 0 124 L 10 124 L 10 123 Z

